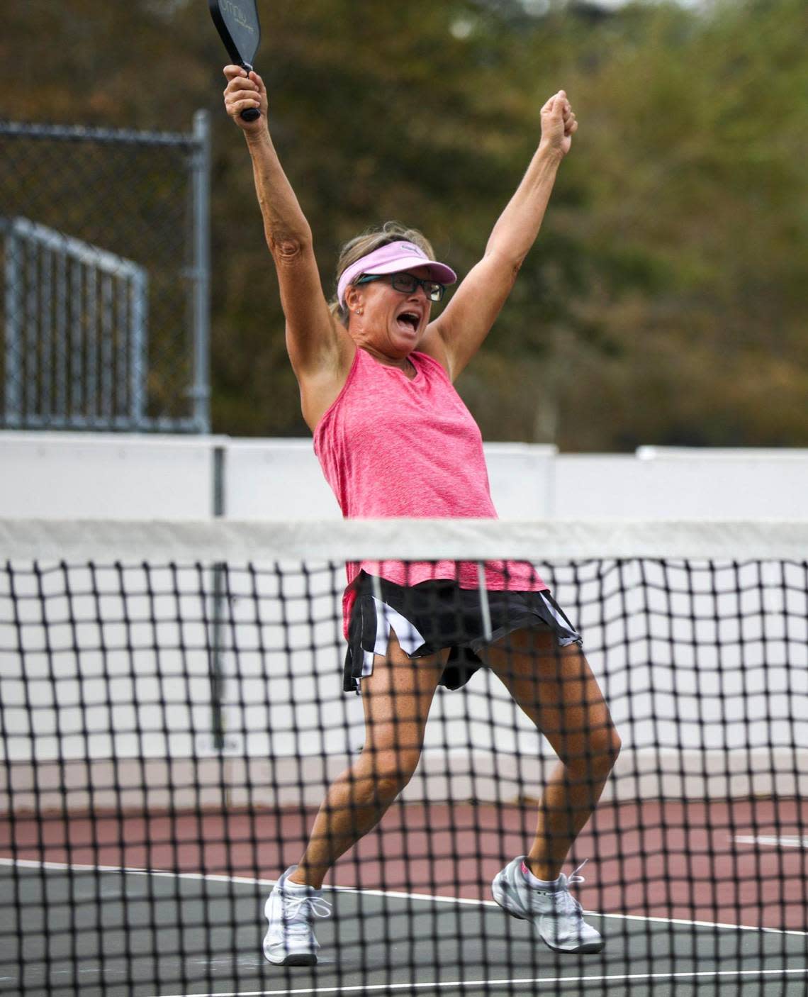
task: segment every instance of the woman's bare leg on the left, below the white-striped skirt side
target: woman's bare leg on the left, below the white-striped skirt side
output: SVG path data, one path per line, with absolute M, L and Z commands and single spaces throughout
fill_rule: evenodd
M 319 889 L 340 855 L 376 827 L 409 782 L 447 657 L 448 650 L 410 659 L 391 634 L 387 657 L 377 655 L 373 674 L 362 680 L 362 754 L 329 789 L 291 882 Z

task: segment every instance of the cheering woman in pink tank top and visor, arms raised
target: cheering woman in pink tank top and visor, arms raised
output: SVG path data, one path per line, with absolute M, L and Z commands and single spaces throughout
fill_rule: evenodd
M 227 113 L 252 158 L 303 416 L 343 514 L 495 517 L 479 430 L 452 382 L 488 334 L 538 234 L 578 128 L 566 94 L 542 108 L 538 149 L 482 259 L 430 321 L 432 302 L 455 274 L 419 232 L 395 223 L 346 246 L 329 306 L 311 230 L 269 135 L 264 84 L 236 66 L 224 74 Z M 248 108 L 261 112 L 256 121 L 240 117 Z M 488 563 L 484 600 L 475 565 L 456 573 L 453 562 L 349 565 L 346 688 L 361 690 L 366 741 L 330 788 L 300 862 L 267 900 L 264 954 L 272 963 L 317 962 L 313 923 L 329 913 L 320 892 L 326 873 L 409 781 L 437 686 L 462 685 L 480 664 L 559 756 L 533 845 L 498 873 L 494 898 L 531 920 L 557 951 L 603 947 L 569 892 L 582 877 L 561 868 L 620 749 L 609 710 L 580 637 L 529 565 Z

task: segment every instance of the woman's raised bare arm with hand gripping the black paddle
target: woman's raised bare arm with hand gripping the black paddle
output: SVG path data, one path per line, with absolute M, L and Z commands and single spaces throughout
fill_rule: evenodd
M 330 394 L 331 381 L 345 366 L 349 344 L 345 330 L 332 317 L 320 282 L 312 231 L 280 164 L 267 125 L 267 92 L 257 73 L 238 66 L 224 70 L 227 113 L 244 134 L 252 159 L 255 190 L 264 219 L 264 234 L 275 262 L 286 316 L 286 346 L 301 385 L 304 416 L 316 422 L 319 406 L 311 395 L 318 385 Z M 260 118 L 245 122 L 240 114 L 258 108 Z M 349 341 L 350 343 L 350 341 Z M 307 413 L 307 397 L 311 412 Z

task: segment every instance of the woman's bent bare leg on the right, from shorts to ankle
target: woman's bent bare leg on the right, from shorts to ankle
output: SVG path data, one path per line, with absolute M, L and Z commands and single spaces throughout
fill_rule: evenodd
M 519 630 L 484 652 L 486 664 L 559 757 L 539 804 L 527 864 L 554 880 L 600 800 L 620 752 L 603 694 L 578 645 L 545 630 Z

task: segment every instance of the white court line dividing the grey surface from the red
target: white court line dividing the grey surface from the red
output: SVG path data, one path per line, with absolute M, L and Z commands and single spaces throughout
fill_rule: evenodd
M 276 879 L 255 879 L 249 876 L 219 875 L 214 872 L 171 872 L 165 869 L 132 868 L 124 865 L 74 865 L 68 862 L 44 862 L 33 858 L 2 858 L 0 866 L 19 865 L 22 868 L 42 868 L 55 872 L 124 872 L 128 875 L 153 875 L 168 879 L 205 880 L 207 882 L 235 882 L 247 886 L 274 886 Z M 395 900 L 423 900 L 427 903 L 454 903 L 473 907 L 496 907 L 493 900 L 475 900 L 466 896 L 437 896 L 431 893 L 404 893 L 392 889 L 355 889 L 353 886 L 326 886 L 339 893 L 362 893 L 365 896 L 392 897 Z M 692 921 L 681 917 L 646 917 L 643 914 L 606 914 L 599 910 L 585 910 L 594 917 L 611 917 L 620 921 L 644 921 L 652 924 L 680 924 L 685 927 L 722 928 L 726 931 L 765 931 L 769 934 L 808 935 L 808 931 L 792 928 L 764 928 L 756 924 L 724 924 L 721 921 Z M 226 997 L 226 995 L 224 995 Z

